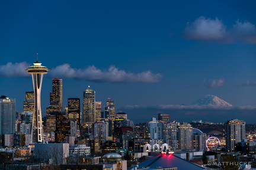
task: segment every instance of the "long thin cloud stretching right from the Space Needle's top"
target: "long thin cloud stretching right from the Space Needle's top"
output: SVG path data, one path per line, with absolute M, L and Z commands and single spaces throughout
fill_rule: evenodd
M 111 83 L 157 83 L 162 77 L 161 74 L 153 74 L 151 71 L 127 73 L 115 66 L 110 66 L 108 70 L 100 70 L 95 66 L 72 68 L 69 64 L 57 66 L 49 71 L 49 74 L 52 77 Z

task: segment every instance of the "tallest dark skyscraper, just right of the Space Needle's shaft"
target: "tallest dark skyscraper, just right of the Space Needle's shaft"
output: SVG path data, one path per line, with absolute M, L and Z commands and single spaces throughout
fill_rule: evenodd
M 50 106 L 47 107 L 47 113 L 62 112 L 63 90 L 62 79 L 52 79 L 52 91 L 50 91 Z

